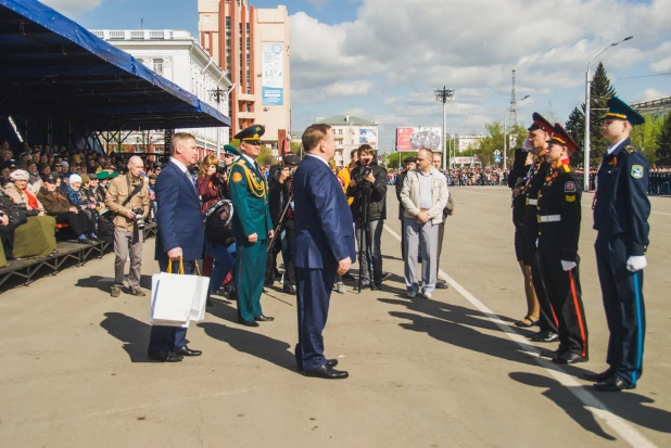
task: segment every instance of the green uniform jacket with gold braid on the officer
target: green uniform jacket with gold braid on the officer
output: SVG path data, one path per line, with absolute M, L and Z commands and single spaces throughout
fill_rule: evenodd
M 273 230 L 268 209 L 268 185 L 265 177 L 244 156 L 232 165 L 229 177 L 230 200 L 233 203 L 233 236 L 239 244 L 256 233 L 267 240 Z

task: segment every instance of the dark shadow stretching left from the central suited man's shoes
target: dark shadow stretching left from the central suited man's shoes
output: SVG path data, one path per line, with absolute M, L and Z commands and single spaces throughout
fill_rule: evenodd
M 267 324 L 271 325 L 273 323 Z M 202 322 L 198 327 L 203 329 L 210 337 L 225 342 L 240 353 L 252 355 L 264 361 L 296 372 L 296 361 L 293 353 L 289 351 L 290 345 L 283 341 L 254 333 L 253 330 L 246 331 L 215 322 Z

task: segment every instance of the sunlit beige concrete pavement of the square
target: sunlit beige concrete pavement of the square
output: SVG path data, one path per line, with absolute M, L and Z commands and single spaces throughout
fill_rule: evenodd
M 3 293 L 0 446 L 671 446 L 671 202 L 651 200 L 644 375 L 635 391 L 608 395 L 577 380 L 605 368 L 608 334 L 590 195 L 581 280 L 591 361 L 557 371 L 536 361 L 520 336 L 529 331 L 507 327 L 526 311 L 508 190 L 452 191 L 441 260 L 452 286 L 431 300 L 405 297 L 390 193 L 382 252 L 393 277 L 382 292 L 332 296 L 327 355 L 350 371 L 345 381 L 294 371 L 295 299 L 281 285 L 262 298 L 277 320 L 258 329 L 235 323 L 235 303 L 218 300 L 189 330 L 203 356 L 177 364 L 145 362 L 149 298 L 110 297 L 113 255 Z M 144 254 L 149 286 L 153 240 Z

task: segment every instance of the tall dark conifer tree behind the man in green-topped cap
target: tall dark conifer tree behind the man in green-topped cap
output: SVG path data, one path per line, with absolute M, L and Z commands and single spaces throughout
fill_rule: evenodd
M 616 95 L 616 90 L 610 86 L 610 79 L 602 62 L 598 63 L 594 79 L 590 85 L 590 161 L 592 165 L 598 165 L 608 149 L 608 142 L 602 135 L 602 116 L 608 108 L 606 106 L 608 99 Z M 582 110 L 584 114 L 584 104 Z

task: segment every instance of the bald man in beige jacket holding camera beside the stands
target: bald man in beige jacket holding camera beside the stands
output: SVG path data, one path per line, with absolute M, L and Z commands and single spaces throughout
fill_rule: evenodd
M 149 184 L 142 178 L 144 164 L 134 155 L 128 159 L 128 174 L 119 176 L 110 182 L 105 206 L 114 217 L 114 284 L 112 297 L 118 297 L 124 286 L 124 270 L 126 259 L 130 255 L 130 272 L 128 286 L 130 294 L 147 295 L 140 289 L 142 269 L 143 232 L 138 228 L 138 219 L 149 216 Z M 141 212 L 141 214 L 140 214 Z

